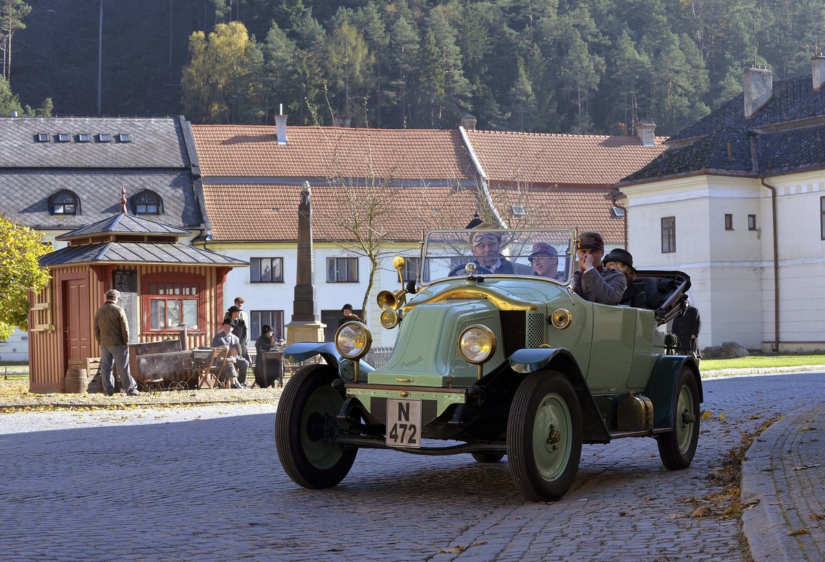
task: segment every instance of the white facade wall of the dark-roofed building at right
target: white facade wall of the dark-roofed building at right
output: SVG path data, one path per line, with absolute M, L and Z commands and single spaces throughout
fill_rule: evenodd
M 780 350 L 825 349 L 822 173 L 777 176 Z M 775 340 L 771 190 L 759 179 L 693 176 L 622 187 L 629 251 L 638 269 L 691 275 L 700 346 L 735 341 L 771 349 Z M 725 214 L 733 229 L 725 229 Z M 755 215 L 756 228 L 748 228 Z M 676 252 L 662 253 L 662 217 L 676 218 Z

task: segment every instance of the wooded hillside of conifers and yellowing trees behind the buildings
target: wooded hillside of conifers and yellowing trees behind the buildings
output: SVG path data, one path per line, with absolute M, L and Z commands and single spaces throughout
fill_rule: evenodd
M 38 0 L 21 103 L 97 115 L 101 9 L 101 115 L 196 123 L 672 134 L 825 40 L 825 0 Z

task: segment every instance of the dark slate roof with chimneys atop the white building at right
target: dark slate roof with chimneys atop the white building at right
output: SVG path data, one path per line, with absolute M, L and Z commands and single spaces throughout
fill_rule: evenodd
M 745 119 L 740 94 L 667 140 L 673 144 L 619 185 L 710 174 L 770 176 L 825 168 L 825 88 L 808 75 L 774 82 L 771 99 Z

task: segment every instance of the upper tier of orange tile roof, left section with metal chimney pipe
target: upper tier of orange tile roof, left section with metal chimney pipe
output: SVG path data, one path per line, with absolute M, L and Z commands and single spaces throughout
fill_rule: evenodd
M 457 130 L 192 125 L 203 176 L 457 180 L 474 166 Z

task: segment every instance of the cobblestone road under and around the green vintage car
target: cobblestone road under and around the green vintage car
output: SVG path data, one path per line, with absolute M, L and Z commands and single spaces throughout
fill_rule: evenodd
M 823 380 L 706 381 L 691 468 L 662 468 L 653 439 L 586 446 L 555 503 L 469 455 L 365 450 L 336 489 L 301 489 L 271 405 L 4 414 L 0 560 L 747 560 L 738 520 L 691 518 L 695 499 L 742 432 L 825 402 Z

